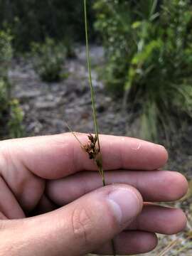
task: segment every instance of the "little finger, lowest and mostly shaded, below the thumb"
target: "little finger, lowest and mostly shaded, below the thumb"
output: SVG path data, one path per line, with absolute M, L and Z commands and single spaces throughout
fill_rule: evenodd
M 150 252 L 157 245 L 157 238 L 154 233 L 130 231 L 122 232 L 114 239 L 117 255 L 135 255 Z M 95 252 L 98 255 L 113 255 L 111 242 L 100 246 Z

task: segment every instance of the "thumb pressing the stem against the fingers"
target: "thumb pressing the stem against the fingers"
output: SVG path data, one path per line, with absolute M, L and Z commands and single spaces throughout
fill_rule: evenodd
M 85 255 L 124 230 L 142 204 L 142 196 L 131 186 L 99 188 L 51 213 L 10 221 L 6 232 L 16 234 L 7 246 L 18 250 L 11 254 L 17 256 Z

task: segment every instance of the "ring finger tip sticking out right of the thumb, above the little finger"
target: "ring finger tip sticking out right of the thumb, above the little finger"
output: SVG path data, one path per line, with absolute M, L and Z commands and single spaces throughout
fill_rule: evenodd
M 182 210 L 146 205 L 127 230 L 144 230 L 152 233 L 173 235 L 186 228 L 186 215 Z

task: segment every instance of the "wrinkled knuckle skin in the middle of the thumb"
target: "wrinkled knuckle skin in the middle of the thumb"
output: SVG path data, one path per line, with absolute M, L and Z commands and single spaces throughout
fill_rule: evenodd
M 72 215 L 73 235 L 82 245 L 91 242 L 93 222 L 90 214 L 85 208 L 76 208 Z

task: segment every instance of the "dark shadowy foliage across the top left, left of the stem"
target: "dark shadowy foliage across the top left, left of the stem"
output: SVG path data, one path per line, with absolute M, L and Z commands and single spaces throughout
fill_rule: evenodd
M 29 50 L 31 42 L 43 43 L 46 37 L 84 41 L 82 16 L 80 0 L 0 0 L 0 29 L 4 23 L 11 28 L 14 49 L 21 52 Z M 89 16 L 92 24 L 91 11 Z

